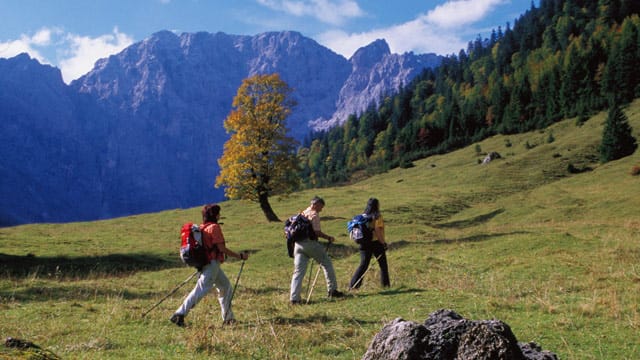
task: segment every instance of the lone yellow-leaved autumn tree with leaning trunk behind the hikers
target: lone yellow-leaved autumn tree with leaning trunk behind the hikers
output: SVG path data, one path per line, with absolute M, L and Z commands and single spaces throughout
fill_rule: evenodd
M 224 127 L 231 136 L 218 159 L 216 187 L 230 199 L 258 202 L 267 220 L 280 221 L 269 204 L 299 184 L 296 141 L 287 136 L 286 118 L 295 102 L 278 74 L 244 79 Z

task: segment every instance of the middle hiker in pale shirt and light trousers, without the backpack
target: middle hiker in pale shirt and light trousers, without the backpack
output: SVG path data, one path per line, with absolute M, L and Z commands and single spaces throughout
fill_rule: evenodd
M 293 263 L 294 270 L 291 277 L 291 293 L 289 298 L 291 305 L 301 304 L 300 292 L 302 290 L 302 280 L 307 272 L 307 264 L 309 259 L 315 260 L 322 270 L 324 271 L 324 278 L 327 282 L 327 295 L 329 298 L 343 297 L 344 294 L 338 291 L 338 282 L 336 280 L 336 273 L 333 270 L 333 264 L 331 258 L 327 254 L 325 248 L 320 244 L 318 238 L 327 239 L 329 244 L 335 241 L 333 236 L 329 236 L 322 232 L 320 228 L 320 215 L 319 213 L 324 208 L 324 200 L 319 197 L 311 199 L 311 205 L 302 212 L 302 215 L 311 221 L 311 226 L 315 232 L 315 239 L 306 238 L 304 240 L 296 241 L 293 249 Z M 327 248 L 328 248 L 327 244 Z

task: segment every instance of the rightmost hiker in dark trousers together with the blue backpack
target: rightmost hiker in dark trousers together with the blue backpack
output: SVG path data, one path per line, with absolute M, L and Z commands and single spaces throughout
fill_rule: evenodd
M 383 287 L 391 286 L 387 265 L 387 243 L 384 237 L 384 220 L 380 213 L 378 199 L 370 198 L 364 213 L 354 217 L 347 225 L 347 228 L 352 238 L 354 236 L 358 237 L 357 240 L 354 240 L 356 240 L 360 249 L 360 265 L 351 277 L 349 291 L 358 290 L 362 286 L 364 275 L 369 268 L 372 256 L 376 258 L 380 266 L 380 283 Z M 361 234 L 354 235 L 354 233 L 358 232 L 354 232 L 354 228 L 357 228 Z

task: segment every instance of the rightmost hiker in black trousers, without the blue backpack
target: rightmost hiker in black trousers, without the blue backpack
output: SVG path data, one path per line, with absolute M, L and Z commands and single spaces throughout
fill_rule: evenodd
M 387 266 L 387 243 L 384 238 L 384 220 L 380 213 L 380 202 L 378 199 L 369 199 L 367 207 L 364 209 L 364 214 L 371 218 L 371 225 L 369 226 L 373 230 L 373 236 L 371 241 L 364 241 L 360 243 L 360 265 L 351 278 L 349 291 L 357 290 L 362 286 L 364 274 L 369 268 L 371 256 L 374 256 L 377 259 L 378 265 L 380 266 L 380 282 L 382 286 L 391 286 L 389 281 L 389 268 Z

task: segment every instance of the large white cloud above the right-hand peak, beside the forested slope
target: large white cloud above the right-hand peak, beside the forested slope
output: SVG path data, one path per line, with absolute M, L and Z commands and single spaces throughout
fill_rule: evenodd
M 393 53 L 457 54 L 469 39 L 469 24 L 482 20 L 508 0 L 453 0 L 403 24 L 362 33 L 331 30 L 317 39 L 323 45 L 349 58 L 362 46 L 385 39 Z M 463 39 L 462 36 L 465 36 Z

